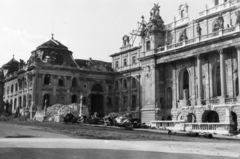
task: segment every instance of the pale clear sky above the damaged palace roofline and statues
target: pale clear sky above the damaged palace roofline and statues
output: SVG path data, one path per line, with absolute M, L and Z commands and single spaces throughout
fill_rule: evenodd
M 137 29 L 144 15 L 149 20 L 159 3 L 165 24 L 188 3 L 190 18 L 212 0 L 0 0 L 0 67 L 15 55 L 28 60 L 30 52 L 54 38 L 73 52 L 75 59 L 111 61 L 122 37 Z M 53 23 L 53 25 L 52 25 Z M 53 27 L 52 27 L 53 26 Z M 135 43 L 138 45 L 138 43 Z

